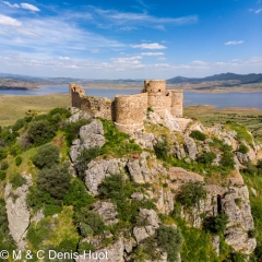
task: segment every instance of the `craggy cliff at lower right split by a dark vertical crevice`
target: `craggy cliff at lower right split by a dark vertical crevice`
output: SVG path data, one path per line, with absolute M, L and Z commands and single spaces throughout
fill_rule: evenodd
M 229 222 L 224 233 L 226 242 L 235 251 L 250 254 L 255 246 L 254 238 L 248 237 L 248 231 L 254 228 L 253 217 L 249 202 L 249 192 L 246 186 L 222 188 L 218 186 L 205 186 L 207 198 L 201 201 L 198 207 L 193 207 L 190 213 L 182 212 L 182 217 L 192 226 L 201 228 L 201 214 L 216 216 L 224 212 L 228 215 Z

